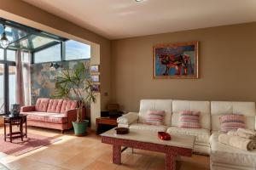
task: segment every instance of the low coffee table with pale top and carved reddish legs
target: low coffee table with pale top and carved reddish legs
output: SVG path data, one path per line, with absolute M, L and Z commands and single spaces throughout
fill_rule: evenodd
M 195 136 L 171 134 L 172 140 L 158 138 L 156 132 L 130 129 L 128 134 L 116 134 L 114 128 L 102 133 L 102 143 L 113 144 L 113 163 L 121 164 L 121 146 L 152 150 L 166 154 L 166 170 L 176 168 L 177 156 L 192 156 Z

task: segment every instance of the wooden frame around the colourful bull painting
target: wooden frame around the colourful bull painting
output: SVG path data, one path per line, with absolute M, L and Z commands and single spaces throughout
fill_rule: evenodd
M 175 70 L 175 75 L 169 75 L 169 72 L 168 72 L 168 75 L 165 75 L 165 74 L 157 75 L 156 74 L 157 66 L 160 66 L 160 65 L 157 65 L 157 62 L 156 62 L 156 59 L 159 56 L 158 52 L 156 52 L 158 48 L 182 48 L 182 47 L 186 47 L 186 46 L 195 46 L 194 51 L 193 51 L 193 54 L 194 54 L 193 65 L 190 62 L 190 69 L 193 71 L 193 74 L 188 75 L 188 73 L 187 73 L 187 75 L 186 74 L 181 75 L 181 71 L 179 68 L 180 66 L 175 67 L 175 69 L 179 71 L 179 74 L 176 74 L 176 70 Z M 199 71 L 198 71 L 198 67 L 199 67 L 198 51 L 199 50 L 198 50 L 198 48 L 199 48 L 199 41 L 160 43 L 160 44 L 154 45 L 153 46 L 153 78 L 154 79 L 197 79 L 197 78 L 199 78 Z M 189 61 L 191 61 L 190 58 L 189 58 Z M 167 67 L 167 65 L 166 65 L 166 67 Z M 168 66 L 168 67 L 170 69 L 170 66 Z M 171 69 L 173 69 L 173 68 L 171 67 Z M 182 68 L 182 69 L 183 70 L 186 69 L 186 71 L 189 72 L 188 66 L 186 66 L 185 69 L 184 68 Z M 166 70 L 167 70 L 167 68 L 166 68 Z M 184 72 L 185 71 L 183 71 L 183 74 L 184 74 Z

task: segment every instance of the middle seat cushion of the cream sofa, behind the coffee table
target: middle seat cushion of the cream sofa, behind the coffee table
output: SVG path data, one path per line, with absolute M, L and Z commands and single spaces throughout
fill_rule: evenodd
M 168 127 L 167 133 L 174 134 L 187 134 L 195 136 L 196 143 L 209 143 L 210 130 L 205 128 L 183 128 L 183 127 Z

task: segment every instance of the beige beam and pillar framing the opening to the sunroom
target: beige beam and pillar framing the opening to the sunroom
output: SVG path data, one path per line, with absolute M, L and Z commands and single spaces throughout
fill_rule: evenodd
M 44 31 L 49 31 L 60 36 L 73 38 L 81 42 L 96 43 L 93 47 L 99 44 L 101 60 L 101 106 L 102 109 L 108 104 L 110 99 L 110 41 L 107 38 L 101 37 L 96 33 L 86 30 L 80 26 L 63 20 L 53 14 L 49 14 L 44 10 L 36 8 L 28 3 L 20 0 L 1 0 L 0 17 L 5 19 L 14 20 L 33 26 Z M 103 95 L 108 93 L 108 96 Z

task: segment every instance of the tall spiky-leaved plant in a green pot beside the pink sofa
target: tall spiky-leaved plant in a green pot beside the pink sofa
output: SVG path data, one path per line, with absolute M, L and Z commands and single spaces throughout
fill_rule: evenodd
M 55 98 L 76 99 L 78 101 L 77 120 L 73 122 L 74 133 L 82 136 L 86 133 L 89 121 L 83 119 L 84 107 L 96 102 L 93 85 L 85 76 L 85 67 L 79 63 L 74 70 L 63 69 L 56 77 Z

